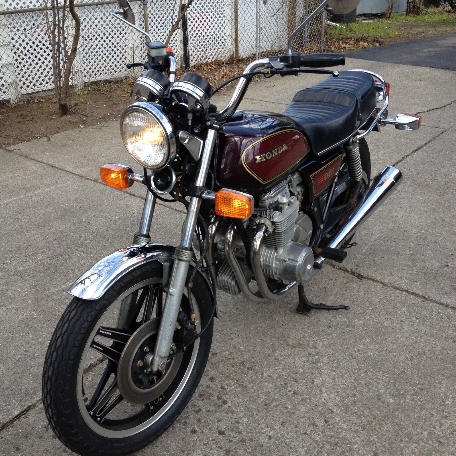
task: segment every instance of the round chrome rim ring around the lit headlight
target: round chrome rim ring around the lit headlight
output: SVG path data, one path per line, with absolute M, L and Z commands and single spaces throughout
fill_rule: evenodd
M 174 130 L 172 128 L 172 125 L 170 121 L 167 119 L 166 115 L 163 114 L 162 108 L 159 104 L 147 102 L 147 101 L 137 101 L 136 103 L 130 104 L 130 106 L 127 106 L 124 109 L 124 112 L 120 116 L 120 135 L 122 136 L 122 141 L 124 142 L 124 146 L 127 149 L 128 153 L 130 154 L 130 151 L 128 150 L 127 145 L 125 144 L 124 140 L 124 132 L 122 129 L 122 124 L 124 121 L 124 118 L 127 114 L 129 114 L 131 111 L 142 111 L 148 115 L 150 115 L 162 128 L 162 130 L 166 134 L 166 141 L 168 143 L 168 158 L 159 166 L 156 168 L 150 168 L 147 167 L 148 169 L 151 170 L 159 170 L 164 168 L 165 166 L 168 166 L 175 158 L 177 154 L 176 150 L 176 135 L 174 134 Z M 130 154 L 131 155 L 131 154 Z M 135 160 L 135 158 L 133 157 Z M 135 160 L 137 163 L 139 163 L 137 160 Z M 142 165 L 141 163 L 139 163 Z

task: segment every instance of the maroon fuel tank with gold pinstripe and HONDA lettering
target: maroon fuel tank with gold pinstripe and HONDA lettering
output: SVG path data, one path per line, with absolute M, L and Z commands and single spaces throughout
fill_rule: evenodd
M 310 148 L 298 124 L 283 114 L 239 112 L 219 134 L 215 183 L 264 192 L 302 165 Z

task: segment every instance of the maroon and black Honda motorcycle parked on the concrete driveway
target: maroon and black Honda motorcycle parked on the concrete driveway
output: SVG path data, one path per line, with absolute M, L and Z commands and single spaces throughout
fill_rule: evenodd
M 389 84 L 368 70 L 337 71 L 344 54 L 287 52 L 251 62 L 213 90 L 201 76 L 176 81 L 171 49 L 135 25 L 128 0 L 113 14 L 147 37 L 135 103 L 120 119 L 124 145 L 143 168 L 107 164 L 104 183 L 146 187 L 133 245 L 94 264 L 52 335 L 43 368 L 47 419 L 81 455 L 123 455 L 161 435 L 202 377 L 217 293 L 253 303 L 297 289 L 296 311 L 313 304 L 304 285 L 326 260 L 342 262 L 352 237 L 402 179 L 387 166 L 371 182 L 366 136 L 386 125 L 418 130 L 420 116 L 387 118 Z M 333 11 L 338 2 L 332 0 Z M 343 1 L 343 0 L 342 0 Z M 283 114 L 238 110 L 254 76 L 327 74 L 298 91 Z M 237 81 L 223 109 L 211 97 Z M 181 243 L 151 242 L 156 201 L 187 210 Z M 252 289 L 256 283 L 256 289 Z

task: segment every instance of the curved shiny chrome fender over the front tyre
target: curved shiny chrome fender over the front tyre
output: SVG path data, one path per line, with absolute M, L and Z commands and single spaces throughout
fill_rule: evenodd
M 84 272 L 76 282 L 68 288 L 67 293 L 81 299 L 95 300 L 101 298 L 104 293 L 120 277 L 127 274 L 139 264 L 150 261 L 174 261 L 175 248 L 166 244 L 135 244 L 117 250 L 94 264 Z M 191 264 L 195 266 L 196 260 Z M 198 270 L 198 274 L 207 283 L 207 288 L 213 297 L 213 284 L 210 277 Z M 217 311 L 217 310 L 216 310 Z

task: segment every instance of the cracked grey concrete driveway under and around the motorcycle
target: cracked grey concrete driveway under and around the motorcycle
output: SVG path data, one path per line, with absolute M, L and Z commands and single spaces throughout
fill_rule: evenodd
M 391 83 L 390 115 L 418 132 L 368 136 L 373 174 L 404 182 L 356 235 L 340 266 L 307 285 L 350 311 L 295 314 L 285 302 L 219 296 L 206 372 L 187 409 L 141 455 L 454 455 L 456 93 L 447 70 L 347 59 Z M 340 68 L 342 69 L 342 68 Z M 255 83 L 243 107 L 282 112 L 321 78 Z M 223 106 L 229 94 L 215 103 Z M 0 454 L 71 453 L 41 405 L 41 369 L 67 287 L 137 231 L 144 189 L 99 181 L 129 159 L 117 122 L 0 150 Z M 183 212 L 158 205 L 155 241 L 178 243 Z

